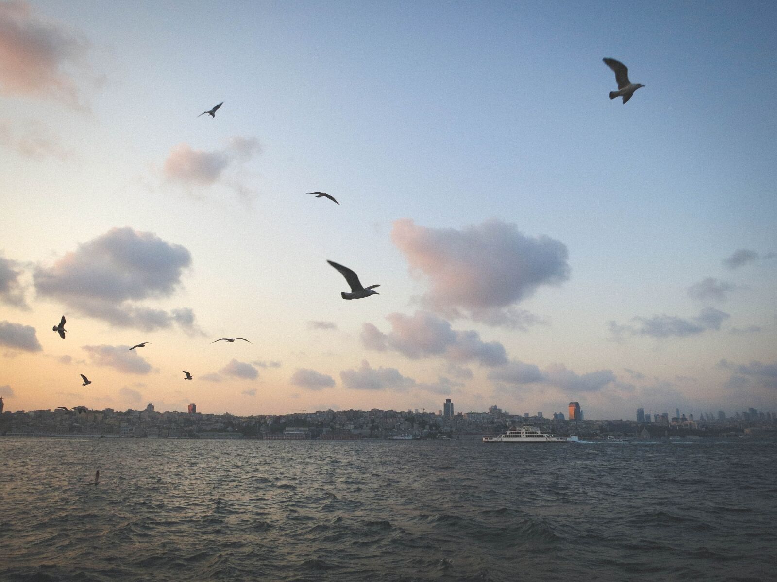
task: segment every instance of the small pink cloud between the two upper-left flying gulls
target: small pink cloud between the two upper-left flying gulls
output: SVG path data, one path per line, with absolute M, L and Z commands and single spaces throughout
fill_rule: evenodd
M 260 154 L 259 142 L 253 137 L 232 137 L 220 150 L 195 150 L 189 144 L 172 147 L 162 167 L 165 178 L 186 189 L 207 188 L 225 185 L 237 192 L 242 199 L 249 200 L 256 195 L 248 185 L 235 175 L 228 175 L 234 169 L 239 173 L 243 164 Z

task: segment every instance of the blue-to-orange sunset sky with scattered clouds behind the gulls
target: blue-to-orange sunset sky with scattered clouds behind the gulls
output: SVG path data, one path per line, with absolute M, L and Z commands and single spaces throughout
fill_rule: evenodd
M 773 2 L 0 2 L 5 410 L 775 411 L 775 31 Z

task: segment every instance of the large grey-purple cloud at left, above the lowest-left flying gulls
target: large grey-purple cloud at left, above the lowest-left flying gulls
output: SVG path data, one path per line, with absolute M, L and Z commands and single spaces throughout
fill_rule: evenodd
M 38 265 L 33 282 L 40 296 L 113 326 L 153 331 L 177 324 L 186 333 L 201 334 L 188 307 L 168 312 L 133 303 L 172 296 L 190 265 L 190 252 L 179 244 L 129 227 L 113 228 L 51 266 Z

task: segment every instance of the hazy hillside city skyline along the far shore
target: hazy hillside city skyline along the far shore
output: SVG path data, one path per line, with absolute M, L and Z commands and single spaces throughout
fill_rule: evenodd
M 455 413 L 447 398 L 437 412 L 419 411 L 299 411 L 291 414 L 239 416 L 197 411 L 190 404 L 186 412 L 158 412 L 148 403 L 145 410 L 89 410 L 75 407 L 54 411 L 3 411 L 0 397 L 0 435 L 74 438 L 211 438 L 267 440 L 361 440 L 406 438 L 477 440 L 499 434 L 510 426 L 533 424 L 559 436 L 580 438 L 709 438 L 777 436 L 777 414 L 747 411 L 726 414 L 718 411 L 684 414 L 636 411 L 635 420 L 587 420 L 580 404 L 570 402 L 566 414 L 542 412 L 510 414 L 496 404 L 486 412 Z

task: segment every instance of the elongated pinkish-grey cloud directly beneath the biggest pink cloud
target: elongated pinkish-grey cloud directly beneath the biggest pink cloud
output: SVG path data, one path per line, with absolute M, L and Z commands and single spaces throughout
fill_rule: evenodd
M 451 329 L 448 321 L 426 311 L 413 317 L 393 313 L 386 316 L 392 331 L 383 334 L 372 324 L 364 324 L 364 347 L 383 352 L 387 349 L 411 359 L 440 356 L 451 362 L 479 362 L 494 366 L 507 363 L 507 353 L 498 341 L 484 342 L 476 331 Z

